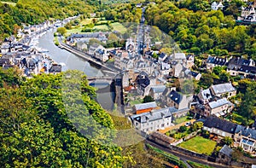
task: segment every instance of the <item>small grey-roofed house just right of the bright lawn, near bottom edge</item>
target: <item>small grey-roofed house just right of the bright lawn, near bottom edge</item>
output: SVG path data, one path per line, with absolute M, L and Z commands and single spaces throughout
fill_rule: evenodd
M 216 162 L 225 164 L 225 165 L 230 165 L 233 152 L 234 151 L 232 148 L 230 148 L 227 145 L 224 145 L 224 147 L 221 148 L 218 152 L 218 157 L 216 158 Z

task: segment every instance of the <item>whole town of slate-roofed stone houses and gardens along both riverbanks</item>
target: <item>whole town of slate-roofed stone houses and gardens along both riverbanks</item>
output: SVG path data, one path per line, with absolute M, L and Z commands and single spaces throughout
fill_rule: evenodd
M 112 74 L 106 76 L 120 86 L 115 103 L 124 111 L 119 113 L 145 137 L 148 148 L 189 155 L 214 167 L 256 165 L 255 102 L 250 104 L 248 92 L 255 89 L 255 60 L 229 54 L 199 57 L 180 49 L 170 35 L 146 24 L 146 9 L 155 4 L 137 3 L 139 22 L 120 24 L 122 31 L 96 13 L 90 14 L 84 32 L 63 30 L 79 15 L 24 26 L 16 37 L 4 39 L 0 67 L 18 68 L 27 78 L 63 72 L 65 63 L 55 62 L 37 45 L 45 32 L 55 30 L 55 45 Z M 246 4 L 236 22 L 254 24 L 256 1 Z M 212 10 L 223 8 L 222 2 L 211 4 Z M 96 24 L 112 29 L 92 31 Z

